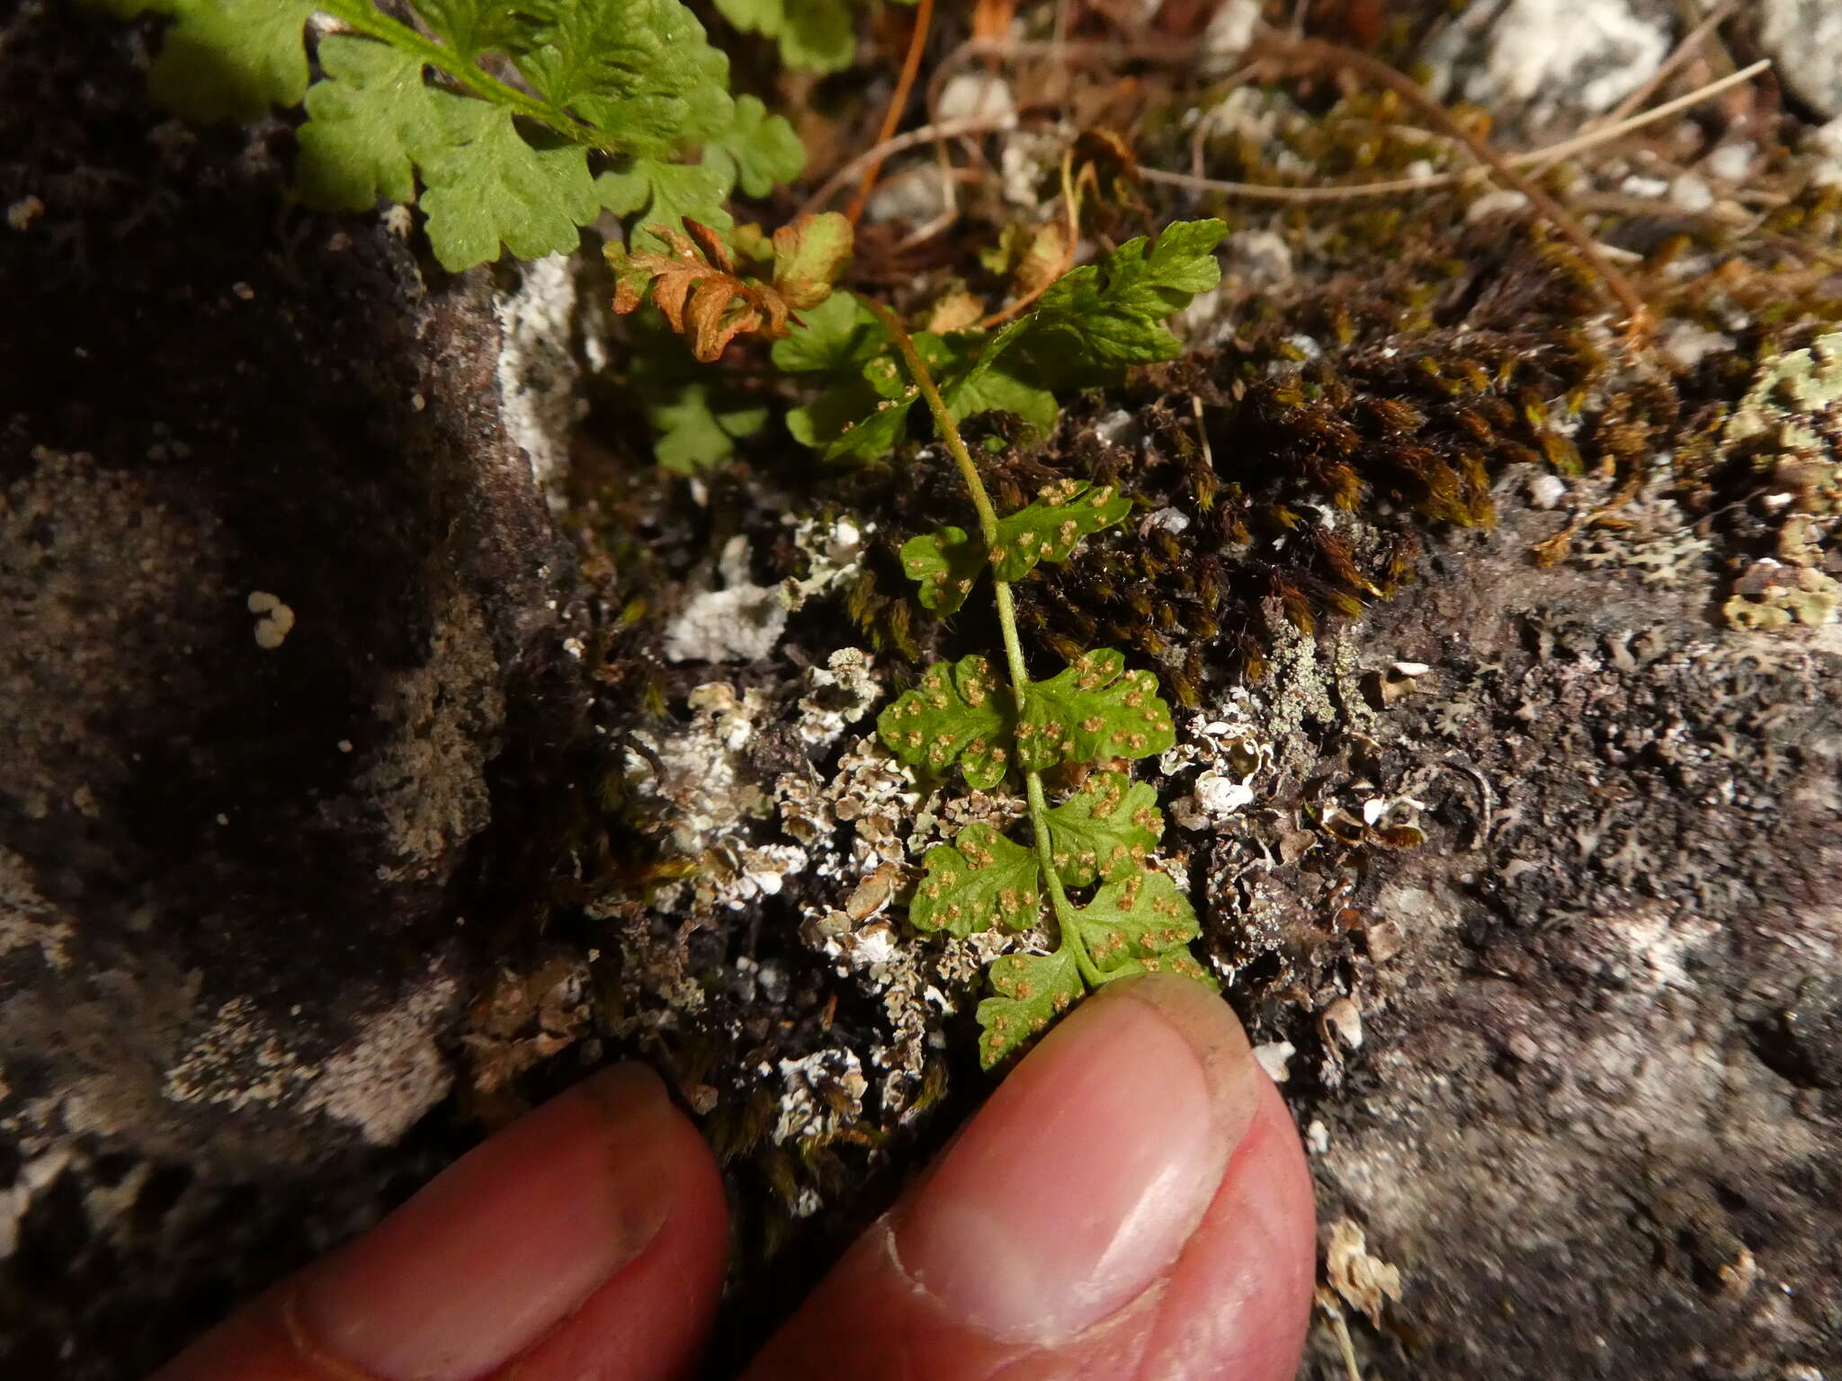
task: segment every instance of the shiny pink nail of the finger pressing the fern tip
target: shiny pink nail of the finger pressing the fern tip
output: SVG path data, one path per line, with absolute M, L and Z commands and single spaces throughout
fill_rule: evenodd
M 1177 1259 L 1253 1121 L 1234 1013 L 1168 974 L 1116 983 L 1030 1053 L 895 1224 L 895 1256 L 960 1320 L 1055 1344 Z

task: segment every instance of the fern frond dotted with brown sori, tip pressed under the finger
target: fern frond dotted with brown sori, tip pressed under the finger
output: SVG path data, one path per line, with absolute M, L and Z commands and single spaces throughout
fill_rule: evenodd
M 1194 285 L 1214 282 L 1208 256 L 1221 236 L 1219 223 L 1203 223 L 1186 234 L 1166 230 L 1157 245 L 1131 241 L 1109 256 L 1078 285 L 1111 311 L 1113 322 L 1168 313 L 1170 302 L 1188 300 Z M 1207 261 L 1205 261 L 1207 260 Z M 1070 274 L 1072 276 L 1072 274 Z M 1197 935 L 1195 913 L 1172 878 L 1151 865 L 1164 819 L 1157 794 L 1120 772 L 1090 775 L 1061 805 L 1050 807 L 1043 772 L 1059 764 L 1098 764 L 1166 751 L 1175 742 L 1170 705 L 1157 694 L 1157 678 L 1125 670 L 1125 657 L 1109 648 L 1081 654 L 1067 670 L 1033 681 L 1017 632 L 1011 582 L 1028 576 L 1039 562 L 1061 562 L 1090 532 L 1118 523 L 1127 505 L 1111 488 L 1063 481 L 1043 490 L 1030 506 L 998 517 L 984 477 L 960 435 L 947 390 L 934 381 L 936 365 L 954 359 L 952 341 L 912 337 L 888 308 L 866 309 L 895 346 L 893 361 L 869 359 L 860 366 L 862 385 L 886 403 L 906 377 L 927 401 L 934 425 L 973 508 L 978 536 L 949 527 L 903 545 L 903 567 L 921 586 L 921 602 L 936 613 L 958 609 L 982 573 L 991 576 L 1004 661 L 1009 672 L 1008 703 L 991 679 L 984 657 L 956 667 L 928 668 L 921 685 L 890 705 L 877 720 L 882 742 L 904 762 L 936 772 L 958 760 L 973 786 L 995 786 L 1015 766 L 1030 807 L 1033 851 L 1022 849 L 987 825 L 967 827 L 952 845 L 927 856 L 927 878 L 910 902 L 919 930 L 1022 928 L 1039 915 L 1037 889 L 1048 899 L 1057 943 L 1052 954 L 1013 954 L 991 967 L 995 994 L 978 1005 L 984 1029 L 978 1051 L 985 1066 L 1015 1055 L 1081 992 L 1144 972 L 1179 972 L 1210 981 L 1190 956 Z M 976 379 L 995 368 L 993 357 L 1015 344 L 1030 319 L 1006 328 L 998 339 L 958 376 Z M 851 319 L 842 311 L 827 326 L 833 350 L 844 354 Z M 1168 333 L 1166 333 L 1168 335 Z M 855 337 L 862 342 L 868 337 Z M 1120 330 L 1109 346 L 1113 359 L 1164 350 L 1155 333 Z M 820 350 L 801 344 L 807 357 Z M 849 354 L 855 365 L 855 352 Z M 906 409 L 906 403 L 904 403 Z M 971 672 L 974 696 L 965 694 Z M 971 700 L 971 703 L 969 703 Z M 1009 707 L 1017 713 L 1009 713 Z M 1087 906 L 1076 906 L 1068 888 L 1098 884 Z M 960 928 L 965 928 L 963 932 Z

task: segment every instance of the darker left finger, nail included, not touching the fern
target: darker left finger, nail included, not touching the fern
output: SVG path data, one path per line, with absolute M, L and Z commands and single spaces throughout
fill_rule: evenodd
M 157 1381 L 470 1381 L 514 1363 L 529 1381 L 665 1381 L 696 1353 L 726 1245 L 715 1158 L 654 1073 L 619 1066 L 488 1138 Z M 634 1328 L 608 1324 L 621 1311 Z

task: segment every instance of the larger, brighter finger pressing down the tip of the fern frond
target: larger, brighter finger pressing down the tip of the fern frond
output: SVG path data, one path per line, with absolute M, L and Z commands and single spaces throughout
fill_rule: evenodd
M 1282 1381 L 1313 1239 L 1304 1151 L 1234 1013 L 1151 974 L 1043 1040 L 748 1381 Z

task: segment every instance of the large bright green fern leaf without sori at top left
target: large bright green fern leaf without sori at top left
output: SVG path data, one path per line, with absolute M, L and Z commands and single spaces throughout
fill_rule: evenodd
M 575 249 L 602 204 L 726 228 L 731 188 L 764 195 L 805 162 L 792 125 L 729 98 L 728 57 L 680 0 L 418 0 L 420 26 L 378 0 L 103 2 L 173 15 L 151 83 L 184 114 L 252 120 L 304 101 L 302 197 L 420 201 L 448 269 L 501 245 L 519 258 Z M 348 31 L 317 44 L 309 87 L 315 11 Z M 705 160 L 672 162 L 687 145 Z M 589 151 L 624 166 L 591 179 Z M 658 249 L 647 230 L 635 241 Z

